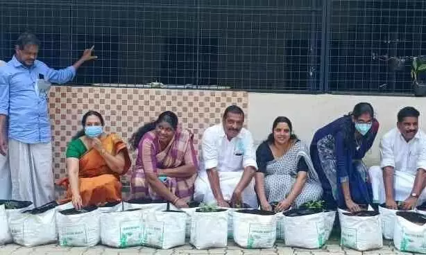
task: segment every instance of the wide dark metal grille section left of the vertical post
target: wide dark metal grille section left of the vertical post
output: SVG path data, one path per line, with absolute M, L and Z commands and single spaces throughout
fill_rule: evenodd
M 95 45 L 76 84 L 315 90 L 320 2 L 2 0 L 0 57 L 29 29 L 51 67 Z

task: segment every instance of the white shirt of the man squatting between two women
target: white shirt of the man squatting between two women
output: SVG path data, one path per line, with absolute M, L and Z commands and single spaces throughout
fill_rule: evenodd
M 242 128 L 231 141 L 226 137 L 223 124 L 205 130 L 201 143 L 201 171 L 216 168 L 220 172 L 235 172 L 247 166 L 257 170 L 253 137 L 248 130 Z

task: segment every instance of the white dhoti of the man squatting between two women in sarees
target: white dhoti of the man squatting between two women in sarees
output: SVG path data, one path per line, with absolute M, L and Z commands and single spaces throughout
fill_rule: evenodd
M 239 183 L 243 171 L 240 172 L 218 172 L 219 173 L 219 183 L 221 186 L 221 191 L 223 199 L 229 201 L 231 200 L 232 193 L 234 193 L 235 187 Z M 196 202 L 205 202 L 210 204 L 216 202 L 214 198 L 212 188 L 210 188 L 210 182 L 207 177 L 207 173 L 201 172 L 198 174 L 198 177 L 195 181 L 195 193 L 194 200 Z M 248 204 L 250 208 L 257 209 L 257 196 L 255 192 L 255 179 L 253 178 L 250 184 L 244 189 L 241 199 L 245 204 Z

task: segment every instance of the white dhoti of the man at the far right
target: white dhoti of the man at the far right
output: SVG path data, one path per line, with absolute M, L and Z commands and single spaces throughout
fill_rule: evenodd
M 380 166 L 372 166 L 368 170 L 370 175 L 371 188 L 373 189 L 373 202 L 383 204 L 386 202 L 386 193 L 384 191 L 383 170 Z M 416 175 L 407 172 L 395 170 L 393 172 L 393 196 L 395 201 L 406 200 L 413 191 Z M 417 204 L 423 204 L 426 200 L 426 189 L 418 197 Z

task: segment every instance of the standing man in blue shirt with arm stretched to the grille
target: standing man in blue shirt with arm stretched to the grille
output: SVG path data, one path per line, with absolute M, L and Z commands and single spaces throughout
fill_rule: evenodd
M 72 80 L 81 64 L 96 58 L 92 47 L 72 66 L 54 70 L 36 60 L 39 46 L 35 35 L 23 33 L 17 39 L 12 60 L 0 67 L 0 154 L 8 155 L 11 198 L 31 201 L 35 206 L 55 198 L 50 83 Z

